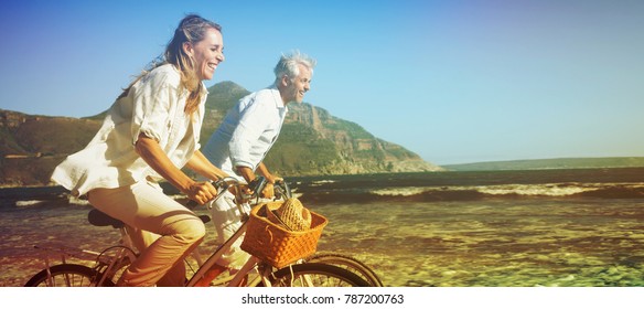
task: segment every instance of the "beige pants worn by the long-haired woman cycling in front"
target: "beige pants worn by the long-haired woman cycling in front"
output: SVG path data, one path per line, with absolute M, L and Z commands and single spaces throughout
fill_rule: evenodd
M 205 235 L 203 222 L 146 181 L 117 189 L 95 189 L 89 203 L 127 225 L 139 257 L 124 273 L 122 286 L 183 286 L 183 258 Z

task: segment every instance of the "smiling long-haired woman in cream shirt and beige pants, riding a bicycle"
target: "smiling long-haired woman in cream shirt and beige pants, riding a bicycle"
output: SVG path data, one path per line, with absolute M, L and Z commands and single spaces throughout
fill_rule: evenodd
M 140 256 L 120 286 L 183 286 L 183 257 L 205 235 L 202 221 L 165 195 L 167 180 L 204 204 L 216 194 L 210 182 L 182 172 L 187 167 L 211 180 L 226 174 L 198 150 L 207 90 L 224 61 L 221 26 L 185 17 L 168 44 L 164 61 L 142 73 L 108 110 L 89 145 L 63 161 L 52 180 L 87 195 L 96 209 L 127 223 Z

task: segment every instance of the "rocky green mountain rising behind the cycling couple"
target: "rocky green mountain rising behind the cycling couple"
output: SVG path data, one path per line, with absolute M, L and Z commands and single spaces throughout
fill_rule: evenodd
M 208 92 L 202 143 L 226 110 L 249 94 L 233 82 L 218 83 Z M 442 170 L 311 104 L 291 104 L 289 109 L 280 138 L 265 159 L 270 170 L 282 177 Z M 101 122 L 103 114 L 71 118 L 0 109 L 0 184 L 49 184 L 54 167 L 83 149 Z

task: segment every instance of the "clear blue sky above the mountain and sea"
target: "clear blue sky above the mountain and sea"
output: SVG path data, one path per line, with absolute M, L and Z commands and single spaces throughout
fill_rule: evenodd
M 307 103 L 430 163 L 644 157 L 640 0 L 4 0 L 0 109 L 104 111 L 187 13 L 223 26 L 206 86 L 299 50 Z

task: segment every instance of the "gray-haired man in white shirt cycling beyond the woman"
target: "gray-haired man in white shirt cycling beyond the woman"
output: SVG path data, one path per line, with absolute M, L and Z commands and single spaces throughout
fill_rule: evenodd
M 265 89 L 243 97 L 211 136 L 202 149 L 206 158 L 224 172 L 239 180 L 250 182 L 256 172 L 267 180 L 264 198 L 273 196 L 275 182 L 278 180 L 264 164 L 262 160 L 277 140 L 288 113 L 289 103 L 302 103 L 304 94 L 311 88 L 311 77 L 315 60 L 296 51 L 282 55 L 276 65 L 275 83 Z M 211 207 L 213 223 L 219 242 L 229 238 L 239 228 L 239 213 L 235 196 L 226 192 Z M 200 281 L 207 285 L 226 268 L 238 269 L 249 255 L 242 251 L 243 237 L 233 244 L 230 252 L 224 254 L 225 265 L 215 265 Z

